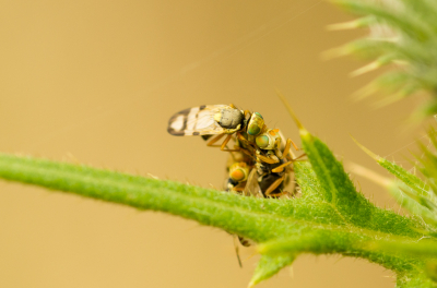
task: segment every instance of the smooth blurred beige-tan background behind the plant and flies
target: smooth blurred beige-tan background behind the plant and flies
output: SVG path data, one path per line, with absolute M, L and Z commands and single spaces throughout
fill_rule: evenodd
M 421 129 L 402 129 L 412 98 L 374 110 L 350 95 L 375 76 L 320 53 L 365 32 L 319 0 L 1 1 L 0 151 L 220 187 L 226 154 L 167 134 L 202 104 L 259 111 L 298 143 L 274 88 L 345 163 L 383 172 L 351 141 L 405 161 Z M 354 177 L 379 206 L 386 191 Z M 246 287 L 229 235 L 161 213 L 0 181 L 0 287 Z M 292 275 L 292 276 L 291 276 Z M 361 260 L 299 257 L 262 287 L 393 287 Z

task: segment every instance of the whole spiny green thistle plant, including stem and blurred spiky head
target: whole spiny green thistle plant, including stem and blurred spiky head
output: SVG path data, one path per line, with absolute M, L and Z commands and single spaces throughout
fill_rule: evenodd
M 342 27 L 389 31 L 394 39 L 367 37 L 342 48 L 377 60 L 356 72 L 400 63 L 370 86 L 388 84 L 398 96 L 416 91 L 432 95 L 425 115 L 437 110 L 437 3 L 399 0 L 375 4 L 333 0 L 366 15 Z M 338 26 L 339 27 L 339 26 Z M 388 27 L 385 29 L 382 27 Z M 398 180 L 382 181 L 410 212 L 402 216 L 370 203 L 356 190 L 328 146 L 295 118 L 307 161 L 294 166 L 302 189 L 297 199 L 256 199 L 127 175 L 85 165 L 0 154 L 0 178 L 169 213 L 221 228 L 258 243 L 261 260 L 249 286 L 276 274 L 303 253 L 361 257 L 391 269 L 397 287 L 435 287 L 437 283 L 437 155 L 422 145 L 418 170 L 424 180 L 368 152 Z M 435 134 L 430 136 L 437 147 Z

